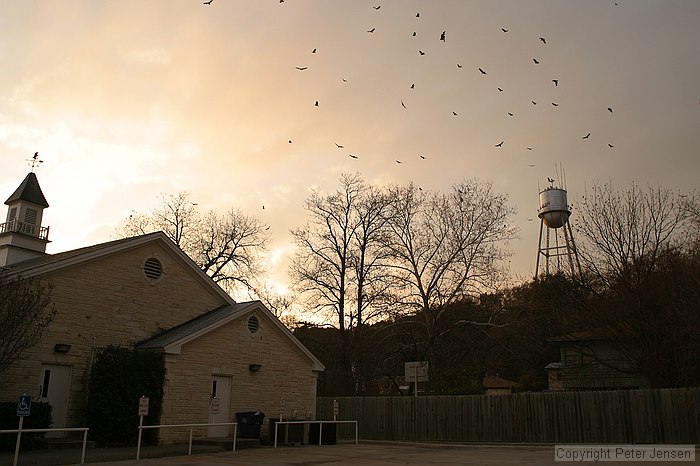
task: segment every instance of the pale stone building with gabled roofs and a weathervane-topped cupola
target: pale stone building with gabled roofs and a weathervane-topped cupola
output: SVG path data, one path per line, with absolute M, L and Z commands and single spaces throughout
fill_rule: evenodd
M 80 427 L 95 350 L 117 345 L 164 353 L 161 424 L 234 422 L 241 411 L 275 416 L 280 400 L 294 408 L 287 417 L 314 418 L 319 360 L 261 302 L 235 302 L 165 234 L 46 254 L 48 203 L 36 175 L 5 204 L 0 266 L 50 284 L 57 315 L 0 375 L 0 401 L 27 393 L 51 403 L 55 427 Z M 161 429 L 160 438 L 180 434 Z M 210 437 L 226 435 L 226 427 L 208 428 Z

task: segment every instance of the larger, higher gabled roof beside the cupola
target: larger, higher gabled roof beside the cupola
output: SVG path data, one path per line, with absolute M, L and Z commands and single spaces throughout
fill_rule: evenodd
M 173 257 L 177 258 L 181 264 L 189 269 L 194 276 L 206 287 L 221 296 L 226 302 L 235 303 L 228 293 L 217 285 L 197 264 L 162 231 L 148 233 L 131 238 L 123 238 L 106 243 L 95 244 L 84 248 L 73 249 L 58 254 L 47 254 L 45 256 L 29 259 L 6 267 L 10 274 L 21 275 L 25 278 L 36 277 L 46 273 L 57 272 L 69 267 L 75 267 L 82 263 L 110 256 L 112 254 L 127 251 L 129 249 L 141 247 L 148 243 L 157 242 L 164 249 L 168 250 Z

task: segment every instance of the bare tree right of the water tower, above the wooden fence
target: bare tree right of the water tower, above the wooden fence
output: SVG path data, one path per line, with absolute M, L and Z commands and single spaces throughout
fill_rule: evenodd
M 657 387 L 700 380 L 694 202 L 660 187 L 603 185 L 579 203 L 577 229 L 596 293 L 582 324 L 607 335 L 631 370 Z

